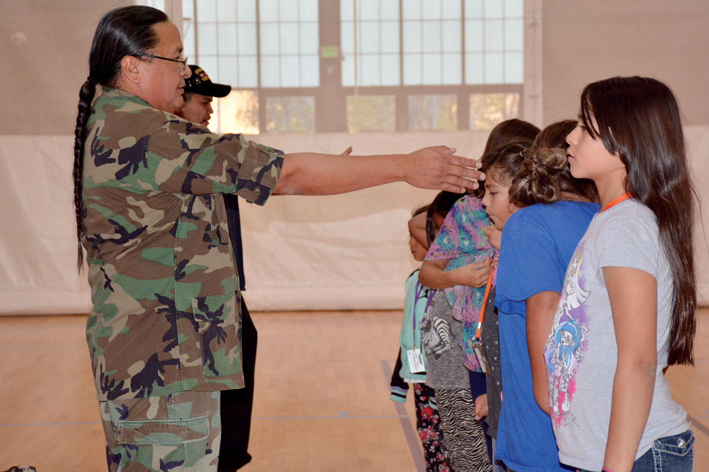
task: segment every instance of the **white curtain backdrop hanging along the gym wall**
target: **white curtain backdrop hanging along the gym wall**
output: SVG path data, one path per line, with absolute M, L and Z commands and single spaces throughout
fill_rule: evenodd
M 709 208 L 709 127 L 686 128 L 701 205 Z M 409 152 L 431 144 L 479 156 L 484 132 L 269 134 L 252 137 L 286 152 Z M 71 136 L 0 136 L 1 314 L 87 313 L 89 286 L 77 275 Z M 357 159 L 356 156 L 342 159 Z M 329 197 L 242 202 L 247 292 L 253 310 L 396 309 L 416 265 L 406 221 L 435 191 L 403 183 Z M 700 300 L 709 301 L 709 216 L 696 234 Z

